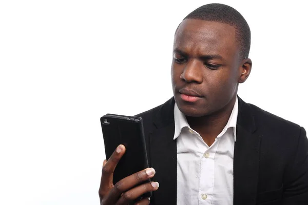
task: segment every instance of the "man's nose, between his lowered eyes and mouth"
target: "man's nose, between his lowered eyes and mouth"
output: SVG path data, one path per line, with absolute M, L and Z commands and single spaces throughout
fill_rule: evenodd
M 203 64 L 198 60 L 189 60 L 184 70 L 181 74 L 181 78 L 185 80 L 187 83 L 198 83 L 201 84 L 203 80 Z

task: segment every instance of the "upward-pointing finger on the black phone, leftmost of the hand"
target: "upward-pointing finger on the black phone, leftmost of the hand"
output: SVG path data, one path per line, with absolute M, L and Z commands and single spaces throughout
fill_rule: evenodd
M 114 150 L 112 155 L 109 157 L 108 161 L 103 163 L 102 178 L 100 185 L 100 193 L 111 189 L 113 186 L 112 178 L 115 167 L 117 167 L 119 160 L 125 153 L 125 147 L 119 145 L 117 149 Z

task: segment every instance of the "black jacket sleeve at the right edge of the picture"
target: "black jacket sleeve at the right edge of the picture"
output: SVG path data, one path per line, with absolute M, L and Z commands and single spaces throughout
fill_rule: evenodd
M 304 128 L 300 128 L 296 149 L 284 171 L 283 204 L 308 204 L 308 139 Z

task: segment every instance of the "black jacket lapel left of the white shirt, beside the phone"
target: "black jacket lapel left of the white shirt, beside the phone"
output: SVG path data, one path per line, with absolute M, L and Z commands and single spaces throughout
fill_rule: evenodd
M 153 181 L 160 187 L 153 192 L 153 204 L 177 204 L 177 142 L 173 139 L 175 100 L 172 97 L 159 110 L 149 136 L 151 166 L 156 170 Z

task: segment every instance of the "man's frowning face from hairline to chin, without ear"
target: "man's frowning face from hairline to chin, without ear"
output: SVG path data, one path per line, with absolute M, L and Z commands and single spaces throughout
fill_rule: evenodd
M 174 40 L 172 89 L 181 112 L 200 117 L 222 110 L 237 93 L 242 72 L 236 30 L 185 19 Z

